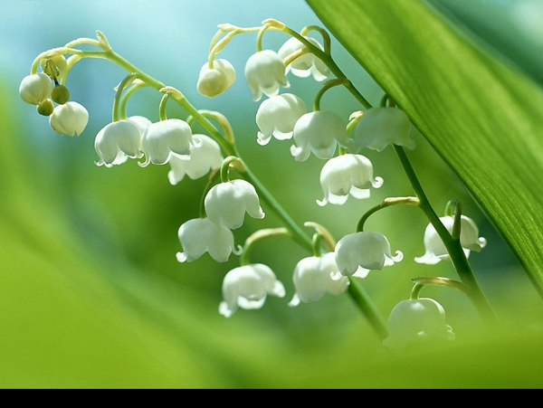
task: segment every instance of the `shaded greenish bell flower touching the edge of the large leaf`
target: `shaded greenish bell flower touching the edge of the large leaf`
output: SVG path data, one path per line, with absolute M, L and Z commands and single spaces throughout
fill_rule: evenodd
M 402 109 L 370 108 L 364 112 L 355 127 L 351 149 L 369 147 L 380 152 L 388 145 L 414 148 L 415 142 L 410 131 L 411 122 Z

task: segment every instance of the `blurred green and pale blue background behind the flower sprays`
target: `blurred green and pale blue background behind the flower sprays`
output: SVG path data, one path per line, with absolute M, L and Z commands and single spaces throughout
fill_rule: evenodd
M 489 10 L 488 3 L 479 2 L 480 10 Z M 496 1 L 492 10 L 506 5 Z M 476 21 L 493 21 L 495 15 L 482 13 Z M 93 163 L 94 136 L 110 122 L 112 89 L 125 74 L 118 67 L 89 59 L 71 71 L 71 99 L 90 112 L 79 138 L 54 133 L 47 119 L 18 97 L 19 82 L 37 54 L 100 30 L 114 50 L 181 90 L 195 107 L 221 111 L 245 161 L 292 217 L 300 225 L 322 223 L 339 239 L 355 231 L 370 206 L 387 196 L 412 194 L 394 152 L 364 152 L 376 176 L 385 179 L 368 200 L 351 198 L 343 206 L 321 208 L 315 200 L 322 198 L 323 161 L 295 162 L 290 141 L 256 143 L 258 103 L 243 80 L 244 61 L 255 51 L 254 34 L 237 36 L 220 54 L 238 72 L 232 89 L 214 100 L 195 90 L 216 24 L 255 26 L 265 18 L 296 30 L 319 24 L 302 1 L 5 2 L 0 15 L 0 387 L 540 387 L 543 303 L 500 236 L 419 135 L 410 157 L 436 211 L 443 213 L 449 199 L 460 200 L 463 213 L 479 223 L 489 242 L 471 261 L 504 331 L 487 332 L 462 293 L 427 288 L 423 295 L 442 303 L 456 341 L 394 356 L 347 295 L 287 306 L 294 266 L 308 254 L 283 239 L 263 242 L 252 251 L 252 261 L 276 272 L 287 289 L 285 299 L 269 298 L 261 310 L 238 310 L 228 319 L 218 314 L 222 280 L 238 265 L 237 257 L 216 263 L 205 254 L 188 264 L 175 257 L 181 250 L 177 229 L 198 215 L 205 180 L 172 186 L 168 166 Z M 263 45 L 277 50 L 284 41 L 284 34 L 268 33 Z M 332 49 L 348 77 L 376 103 L 382 92 L 375 83 L 338 43 Z M 311 106 L 319 84 L 290 81 L 290 91 Z M 159 98 L 152 90 L 139 91 L 129 114 L 156 120 Z M 322 107 L 345 119 L 360 109 L 339 89 L 326 94 Z M 172 105 L 168 115 L 183 118 L 184 112 Z M 270 211 L 263 220 L 247 218 L 234 231 L 236 242 L 274 226 Z M 425 226 L 422 213 L 411 207 L 389 208 L 367 223 L 367 229 L 386 234 L 393 251 L 405 254 L 401 263 L 361 281 L 384 316 L 409 297 L 414 277 L 455 278 L 450 263 L 413 261 L 424 253 Z

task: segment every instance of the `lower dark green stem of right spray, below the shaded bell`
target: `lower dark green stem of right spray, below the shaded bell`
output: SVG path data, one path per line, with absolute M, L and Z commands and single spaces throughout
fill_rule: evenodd
M 460 280 L 462 280 L 464 285 L 470 288 L 467 295 L 469 299 L 472 300 L 473 306 L 477 308 L 481 314 L 481 317 L 489 326 L 498 327 L 500 325 L 498 318 L 494 314 L 488 299 L 486 299 L 484 296 L 479 283 L 475 279 L 472 266 L 464 254 L 460 240 L 455 240 L 452 238 L 451 233 L 445 228 L 439 219 L 439 216 L 433 211 L 432 205 L 428 201 L 428 198 L 424 193 L 424 189 L 420 184 L 418 177 L 414 173 L 413 166 L 411 166 L 407 155 L 405 155 L 404 148 L 397 145 L 394 145 L 394 148 L 400 162 L 402 163 L 402 166 L 404 166 L 405 174 L 409 178 L 409 181 L 414 189 L 414 194 L 419 199 L 420 208 L 423 210 L 430 223 L 432 223 L 435 232 L 437 232 L 439 237 L 442 239 L 445 248 L 449 252 L 454 269 L 460 277 Z

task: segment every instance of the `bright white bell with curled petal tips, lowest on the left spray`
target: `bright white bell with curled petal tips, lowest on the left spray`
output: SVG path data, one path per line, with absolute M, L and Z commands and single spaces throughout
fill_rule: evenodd
M 223 299 L 219 313 L 230 318 L 238 308 L 262 308 L 266 295 L 285 296 L 285 288 L 273 271 L 262 263 L 253 263 L 230 270 L 223 280 Z

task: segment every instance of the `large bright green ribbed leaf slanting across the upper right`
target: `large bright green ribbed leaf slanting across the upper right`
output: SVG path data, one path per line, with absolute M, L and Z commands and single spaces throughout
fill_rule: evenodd
M 543 294 L 543 92 L 424 2 L 308 3 L 461 178 Z

